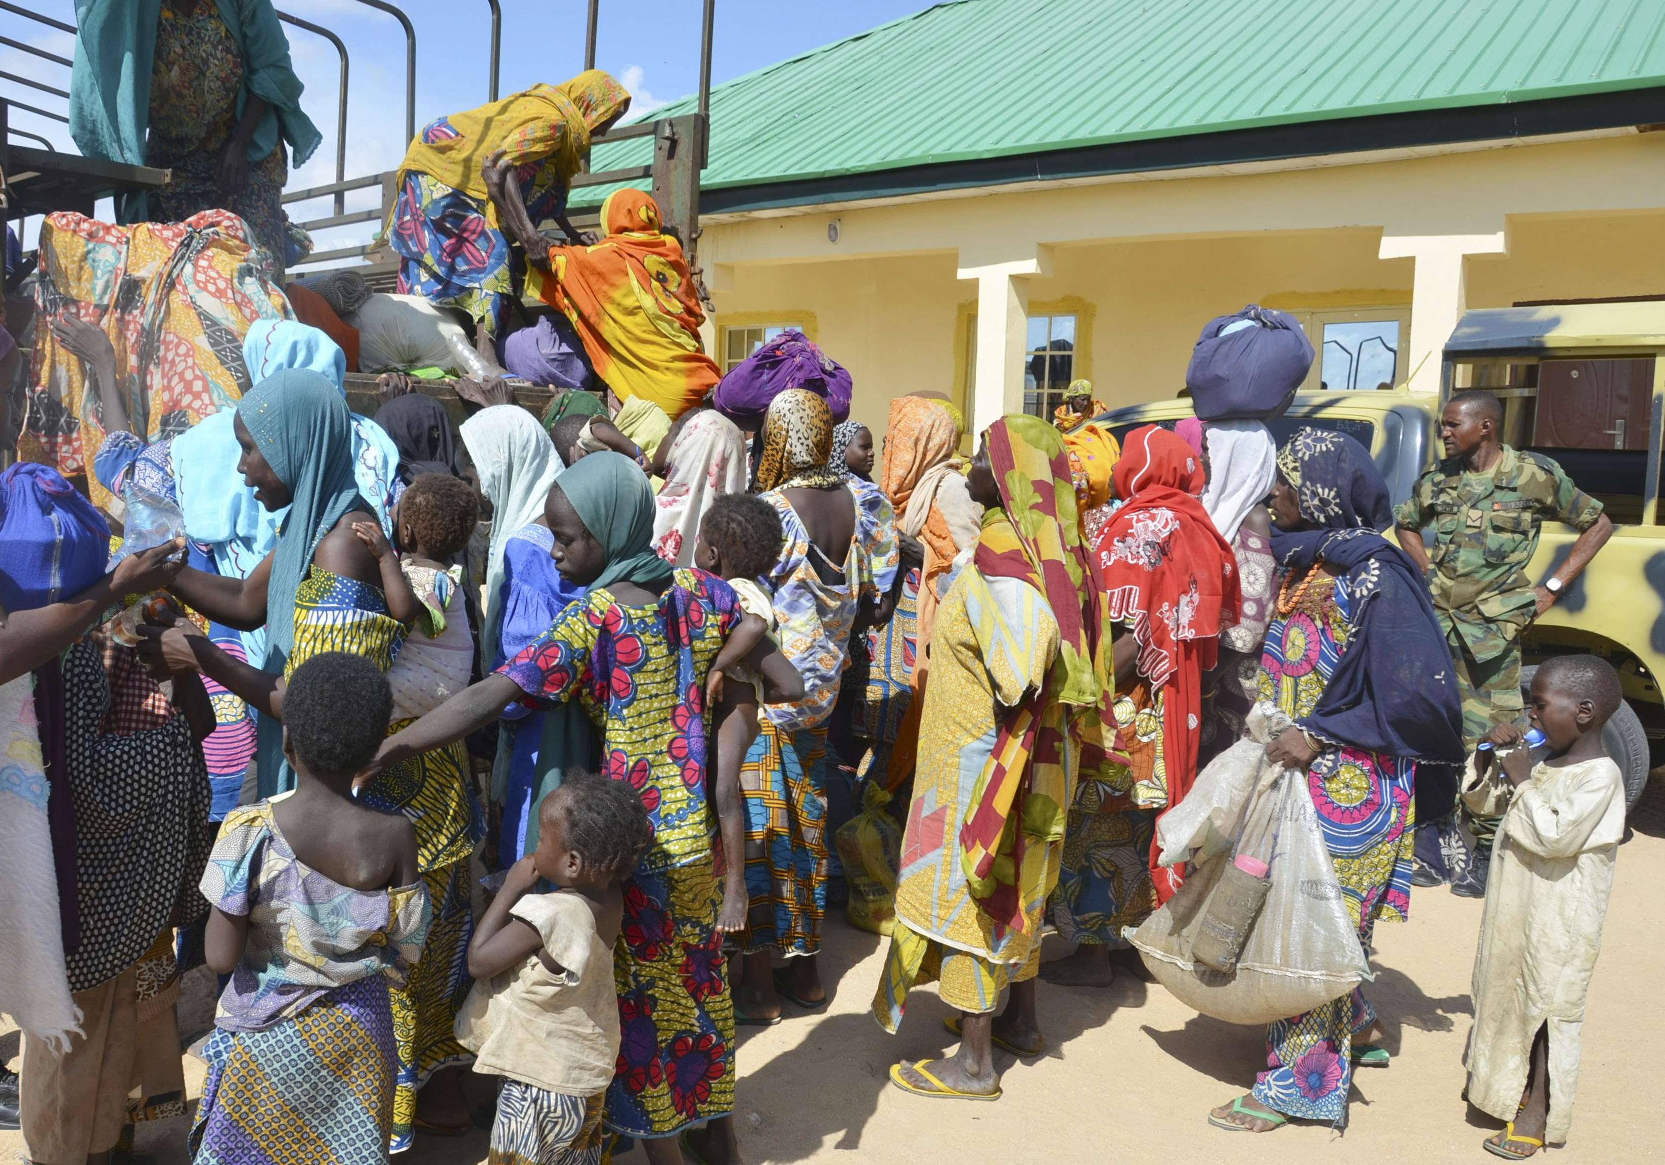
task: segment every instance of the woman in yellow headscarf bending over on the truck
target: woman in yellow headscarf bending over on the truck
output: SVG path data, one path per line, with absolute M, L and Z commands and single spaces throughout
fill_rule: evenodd
M 533 85 L 423 128 L 400 163 L 400 196 L 386 226 L 400 256 L 400 293 L 461 308 L 483 336 L 501 335 L 516 288 L 481 161 L 501 151 L 533 221 L 553 218 L 578 238 L 566 221 L 568 186 L 589 156 L 591 136 L 628 108 L 624 87 L 591 68 L 564 85 Z M 485 338 L 480 343 L 486 351 Z

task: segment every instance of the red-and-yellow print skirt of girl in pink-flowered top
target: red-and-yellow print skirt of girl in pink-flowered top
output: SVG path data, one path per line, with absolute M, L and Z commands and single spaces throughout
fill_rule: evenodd
M 709 854 L 624 884 L 613 949 L 619 1067 L 608 1085 L 608 1130 L 673 1137 L 734 1110 L 734 1000 Z

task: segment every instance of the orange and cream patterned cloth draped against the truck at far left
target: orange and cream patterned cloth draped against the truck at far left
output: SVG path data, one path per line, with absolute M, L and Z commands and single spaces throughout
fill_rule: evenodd
M 70 313 L 103 330 L 145 441 L 235 406 L 250 389 L 243 335 L 255 320 L 290 316 L 248 226 L 223 210 L 135 226 L 47 215 L 35 308 L 42 320 Z M 87 389 L 82 361 L 42 328 L 18 456 L 65 478 L 87 474 L 93 503 L 108 508 L 108 491 L 92 479 L 105 426 L 98 394 Z

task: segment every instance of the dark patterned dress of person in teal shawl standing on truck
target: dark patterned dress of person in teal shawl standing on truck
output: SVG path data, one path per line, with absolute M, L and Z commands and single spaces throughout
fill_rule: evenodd
M 200 3 L 193 15 L 183 17 L 163 0 L 150 72 L 145 165 L 171 170 L 173 176 L 150 195 L 150 213 L 158 221 L 180 223 L 225 206 L 248 225 L 253 241 L 270 256 L 271 270 L 281 275 L 288 240 L 283 183 L 290 178 L 283 145 L 248 163 L 248 181 L 230 205 L 215 175 L 236 131 L 241 88 L 243 47 L 226 28 L 218 5 Z

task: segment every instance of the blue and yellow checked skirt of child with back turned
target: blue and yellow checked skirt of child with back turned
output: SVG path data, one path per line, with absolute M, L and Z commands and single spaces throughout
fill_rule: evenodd
M 393 1128 L 393 1014 L 371 975 L 265 1032 L 216 1030 L 195 1165 L 370 1165 Z

